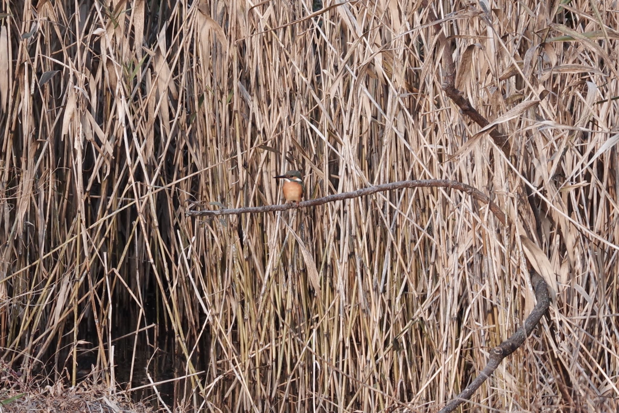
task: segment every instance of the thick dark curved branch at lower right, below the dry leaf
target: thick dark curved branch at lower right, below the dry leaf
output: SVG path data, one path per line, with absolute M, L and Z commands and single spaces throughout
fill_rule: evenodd
M 531 334 L 537 323 L 541 320 L 543 314 L 548 310 L 550 305 L 550 297 L 548 296 L 548 287 L 543 278 L 535 271 L 530 272 L 531 284 L 535 290 L 535 298 L 537 298 L 537 304 L 529 314 L 526 320 L 524 320 L 524 326 L 518 329 L 511 337 L 506 341 L 496 346 L 490 352 L 490 359 L 483 368 L 482 372 L 468 385 L 462 393 L 458 394 L 456 398 L 452 399 L 448 404 L 443 407 L 438 413 L 449 413 L 454 411 L 463 401 L 469 399 L 470 396 L 482 385 L 484 381 L 495 371 L 496 367 L 501 361 L 512 354 L 516 349 L 522 346 L 524 340 Z

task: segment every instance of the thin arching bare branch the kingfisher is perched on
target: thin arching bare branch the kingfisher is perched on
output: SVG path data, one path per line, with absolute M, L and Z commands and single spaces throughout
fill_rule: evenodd
M 282 205 L 266 205 L 259 207 L 243 207 L 235 209 L 220 209 L 219 211 L 194 211 L 189 209 L 185 212 L 187 216 L 202 217 L 202 216 L 215 216 L 215 215 L 233 215 L 233 214 L 259 214 L 261 212 L 269 211 L 285 211 L 292 208 L 306 208 L 317 205 L 326 204 L 327 202 L 342 201 L 343 199 L 358 198 L 359 196 L 371 195 L 377 192 L 392 191 L 393 189 L 402 188 L 452 188 L 463 191 L 477 201 L 483 202 L 490 206 L 490 211 L 495 214 L 496 218 L 504 225 L 506 223 L 505 214 L 499 207 L 491 201 L 490 197 L 482 193 L 477 188 L 474 188 L 465 183 L 451 180 L 409 180 L 409 181 L 397 181 L 391 183 L 384 183 L 381 185 L 370 186 L 369 188 L 357 189 L 357 191 L 344 192 L 340 194 L 332 194 L 324 196 L 322 198 L 310 199 L 309 201 L 299 202 L 298 204 L 282 204 Z

